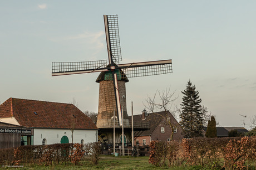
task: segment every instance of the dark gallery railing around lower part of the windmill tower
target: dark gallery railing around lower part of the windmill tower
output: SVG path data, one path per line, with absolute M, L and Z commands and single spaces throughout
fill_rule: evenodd
M 108 119 L 106 121 L 107 123 L 104 123 L 104 125 L 101 125 L 101 128 L 113 128 L 114 127 L 114 122 L 112 119 Z M 119 125 L 119 122 L 115 122 L 115 127 L 116 128 L 121 128 L 122 126 Z M 131 122 L 124 121 L 124 128 L 131 128 Z M 141 128 L 141 129 L 149 129 L 150 128 L 150 123 L 148 122 L 134 122 L 134 128 Z

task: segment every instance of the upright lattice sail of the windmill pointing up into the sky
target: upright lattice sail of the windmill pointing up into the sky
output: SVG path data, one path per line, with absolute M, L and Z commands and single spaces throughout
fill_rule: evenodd
M 114 63 L 119 63 L 122 60 L 120 38 L 119 38 L 119 27 L 117 15 L 107 16 L 107 21 L 109 22 L 109 35 L 110 35 L 110 45 L 111 54 L 113 56 Z

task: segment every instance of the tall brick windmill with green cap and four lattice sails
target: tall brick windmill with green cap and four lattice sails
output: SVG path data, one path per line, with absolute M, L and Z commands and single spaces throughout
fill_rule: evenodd
M 126 110 L 125 83 L 129 81 L 127 78 L 172 73 L 172 61 L 169 59 L 117 64 L 122 60 L 117 15 L 104 15 L 104 24 L 109 62 L 107 63 L 107 60 L 98 60 L 52 63 L 52 76 L 101 72 L 96 80 L 97 83 L 100 83 L 97 127 L 99 128 L 99 134 L 101 134 L 101 140 L 107 143 L 114 142 L 112 131 L 114 126 L 113 119 L 116 117 L 115 143 L 122 140 L 120 131 L 123 122 L 126 128 L 124 141 L 127 142 L 131 141 L 131 125 L 127 119 Z M 137 130 L 149 128 L 148 126 L 144 127 L 142 124 L 136 127 Z

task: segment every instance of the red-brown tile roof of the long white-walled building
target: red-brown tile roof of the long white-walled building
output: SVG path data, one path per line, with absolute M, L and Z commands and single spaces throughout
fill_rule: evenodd
M 75 129 L 97 129 L 95 123 L 73 104 L 9 98 L 0 105 L 0 119 L 14 117 L 19 125 L 26 127 L 70 128 L 73 115 Z

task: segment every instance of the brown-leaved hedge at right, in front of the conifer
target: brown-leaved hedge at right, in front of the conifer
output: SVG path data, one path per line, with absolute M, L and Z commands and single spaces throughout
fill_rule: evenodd
M 152 141 L 149 163 L 169 167 L 184 162 L 208 168 L 239 168 L 256 166 L 256 137 L 192 138 L 182 142 Z

